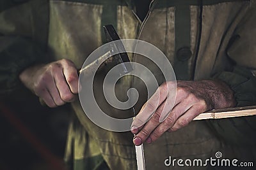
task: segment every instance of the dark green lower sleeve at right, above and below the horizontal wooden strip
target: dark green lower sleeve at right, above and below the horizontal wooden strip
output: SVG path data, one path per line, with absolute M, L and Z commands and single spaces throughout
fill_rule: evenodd
M 230 85 L 235 92 L 236 106 L 252 106 L 256 100 L 256 79 L 251 71 L 243 67 L 235 67 L 232 73 L 222 72 L 216 76 L 219 80 Z M 209 125 L 216 134 L 227 143 L 236 146 L 255 145 L 256 117 L 225 118 L 223 120 L 210 120 Z

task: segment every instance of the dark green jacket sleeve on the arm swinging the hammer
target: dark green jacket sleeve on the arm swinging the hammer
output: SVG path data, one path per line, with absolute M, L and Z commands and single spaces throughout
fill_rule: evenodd
M 21 87 L 19 74 L 24 69 L 47 60 L 48 11 L 46 1 L 41 0 L 12 5 L 3 1 L 1 4 L 0 96 L 4 97 Z M 41 17 L 42 14 L 46 16 Z M 38 31 L 42 33 L 38 34 Z

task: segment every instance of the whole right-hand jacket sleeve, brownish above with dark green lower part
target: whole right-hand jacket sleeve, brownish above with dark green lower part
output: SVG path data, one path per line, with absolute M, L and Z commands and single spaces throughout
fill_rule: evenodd
M 214 78 L 224 81 L 234 91 L 236 106 L 256 105 L 256 8 L 252 6 L 234 32 L 227 48 L 234 61 L 233 71 L 223 71 Z M 217 134 L 234 145 L 255 146 L 256 116 L 209 120 Z

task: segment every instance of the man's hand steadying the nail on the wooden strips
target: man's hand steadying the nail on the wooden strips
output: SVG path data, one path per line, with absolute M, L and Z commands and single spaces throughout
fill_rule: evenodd
M 168 81 L 144 104 L 132 122 L 131 132 L 136 134 L 134 145 L 141 145 L 144 141 L 152 143 L 166 131 L 177 131 L 200 113 L 236 104 L 234 92 L 217 80 L 177 81 L 177 96 L 174 98 L 173 81 Z M 173 102 L 172 109 L 170 103 Z

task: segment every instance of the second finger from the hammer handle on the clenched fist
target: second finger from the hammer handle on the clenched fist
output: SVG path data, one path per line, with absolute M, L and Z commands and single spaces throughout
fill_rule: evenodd
M 65 76 L 62 71 L 55 71 L 54 81 L 56 83 L 56 87 L 60 94 L 60 97 L 65 102 L 72 102 L 74 100 L 74 94 L 72 94 L 67 81 L 65 80 Z

